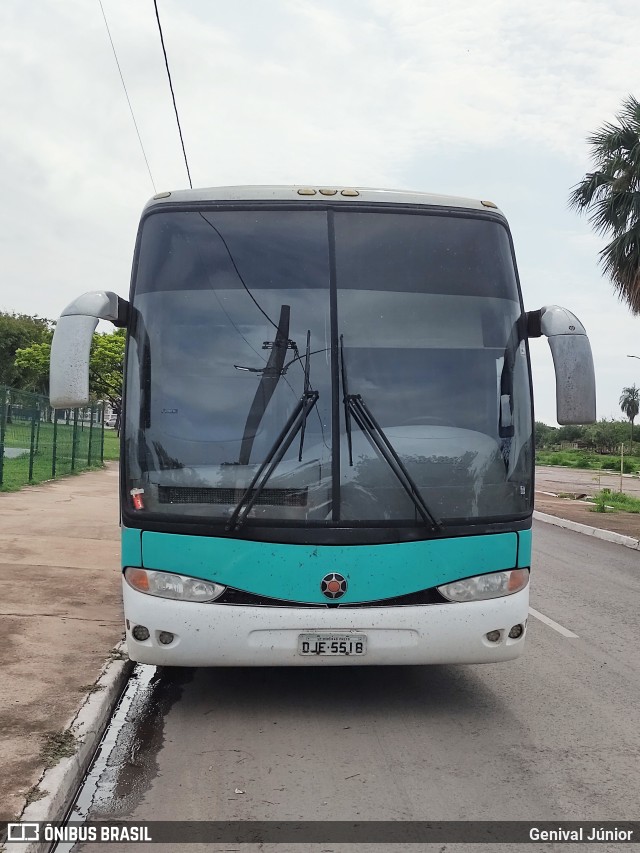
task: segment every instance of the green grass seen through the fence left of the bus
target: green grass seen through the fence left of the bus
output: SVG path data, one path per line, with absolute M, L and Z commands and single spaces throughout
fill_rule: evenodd
M 53 424 L 41 423 L 34 436 L 33 472 L 29 479 L 29 451 L 31 448 L 31 424 L 15 421 L 6 425 L 5 447 L 20 448 L 25 451 L 21 456 L 10 459 L 5 455 L 0 491 L 13 492 L 26 485 L 35 485 L 51 480 L 53 474 Z M 91 439 L 91 460 L 89 464 L 89 440 Z M 87 424 L 78 424 L 76 433 L 76 453 L 72 471 L 73 425 L 58 422 L 56 434 L 55 476 L 75 474 L 81 471 L 102 467 L 100 443 L 102 428 Z M 120 439 L 113 429 L 104 430 L 103 458 L 116 460 L 120 456 Z

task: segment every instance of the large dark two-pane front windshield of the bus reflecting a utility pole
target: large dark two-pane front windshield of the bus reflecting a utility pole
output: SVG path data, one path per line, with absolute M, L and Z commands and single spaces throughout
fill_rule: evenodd
M 497 218 L 164 209 L 143 220 L 132 301 L 130 509 L 425 536 L 530 512 L 528 353 Z

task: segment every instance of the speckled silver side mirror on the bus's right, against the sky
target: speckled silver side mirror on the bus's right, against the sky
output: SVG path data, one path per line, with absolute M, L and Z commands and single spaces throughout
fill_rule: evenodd
M 528 337 L 545 335 L 556 372 L 559 424 L 588 424 L 596 419 L 596 380 L 591 344 L 580 320 L 566 308 L 546 305 L 527 313 Z

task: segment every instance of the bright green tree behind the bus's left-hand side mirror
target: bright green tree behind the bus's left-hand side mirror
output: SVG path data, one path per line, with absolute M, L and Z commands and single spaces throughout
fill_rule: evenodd
M 109 400 L 116 412 L 122 399 L 125 330 L 101 334 L 96 332 L 91 343 L 89 359 L 89 394 L 93 400 Z M 49 390 L 49 361 L 51 344 L 33 344 L 16 352 L 15 363 L 23 376 L 42 393 Z

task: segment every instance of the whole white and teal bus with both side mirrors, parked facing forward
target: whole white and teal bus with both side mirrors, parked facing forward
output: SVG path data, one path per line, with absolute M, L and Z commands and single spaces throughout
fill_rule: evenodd
M 595 418 L 576 317 L 523 307 L 488 201 L 222 187 L 145 207 L 129 301 L 63 312 L 51 403 L 127 329 L 122 587 L 135 661 L 491 663 L 526 637 L 528 340 Z

